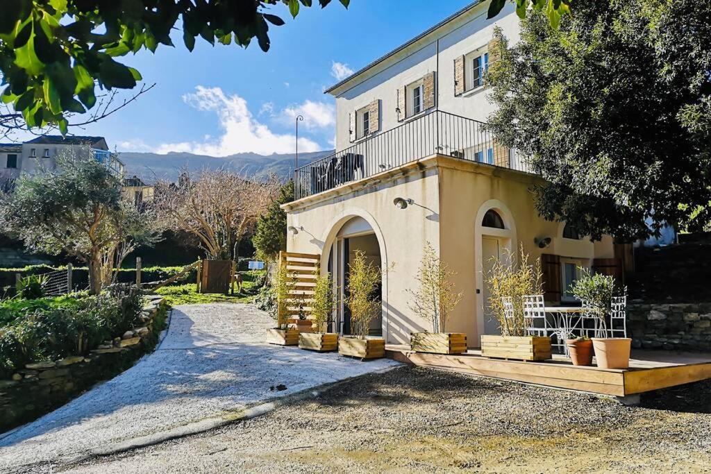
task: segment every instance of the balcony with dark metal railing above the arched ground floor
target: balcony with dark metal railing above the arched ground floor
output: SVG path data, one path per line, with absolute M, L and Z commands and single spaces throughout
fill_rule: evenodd
M 530 172 L 515 152 L 496 143 L 482 122 L 436 111 L 296 168 L 294 198 L 323 193 L 435 154 Z

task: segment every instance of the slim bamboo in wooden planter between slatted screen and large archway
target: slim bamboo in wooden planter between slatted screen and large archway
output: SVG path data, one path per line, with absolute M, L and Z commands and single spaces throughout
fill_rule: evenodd
M 338 333 L 326 332 L 328 320 L 336 306 L 333 297 L 333 280 L 331 274 L 321 274 L 316 266 L 316 285 L 314 286 L 314 296 L 311 303 L 311 330 L 313 332 L 302 332 L 299 334 L 299 348 L 327 352 L 338 348 Z

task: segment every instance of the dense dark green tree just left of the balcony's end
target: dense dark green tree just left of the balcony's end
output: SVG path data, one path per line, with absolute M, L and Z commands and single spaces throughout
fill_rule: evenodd
M 274 262 L 279 252 L 287 249 L 287 212 L 282 209 L 282 204 L 294 200 L 294 181 L 289 182 L 279 189 L 267 212 L 257 220 L 257 230 L 252 237 L 252 244 L 257 249 L 257 258 Z

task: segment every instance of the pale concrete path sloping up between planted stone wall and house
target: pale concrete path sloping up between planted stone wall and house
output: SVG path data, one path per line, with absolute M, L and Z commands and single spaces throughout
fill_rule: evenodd
M 0 435 L 0 472 L 65 463 L 105 446 L 397 365 L 266 345 L 264 333 L 272 325 L 272 318 L 250 305 L 174 308 L 168 334 L 154 353 L 60 409 Z M 279 385 L 286 389 L 277 390 Z

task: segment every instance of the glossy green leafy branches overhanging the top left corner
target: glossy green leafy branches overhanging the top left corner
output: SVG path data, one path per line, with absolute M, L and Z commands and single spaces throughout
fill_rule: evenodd
M 348 7 L 349 0 L 340 0 Z M 283 4 L 295 18 L 311 0 L 3 0 L 0 15 L 1 99 L 13 104 L 29 127 L 56 125 L 67 113 L 95 107 L 96 86 L 132 89 L 139 71 L 114 58 L 159 45 L 172 46 L 179 23 L 193 50 L 200 36 L 210 44 L 244 48 L 257 38 L 269 50 L 269 24 L 284 20 L 269 7 Z M 321 7 L 331 0 L 319 0 Z M 0 125 L 5 121 L 0 117 Z

